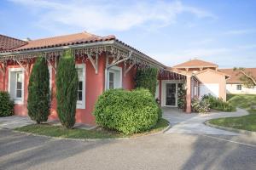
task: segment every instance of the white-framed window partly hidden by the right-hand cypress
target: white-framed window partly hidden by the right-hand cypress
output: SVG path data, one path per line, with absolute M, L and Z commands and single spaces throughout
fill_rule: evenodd
M 85 65 L 76 65 L 79 75 L 77 108 L 85 109 Z

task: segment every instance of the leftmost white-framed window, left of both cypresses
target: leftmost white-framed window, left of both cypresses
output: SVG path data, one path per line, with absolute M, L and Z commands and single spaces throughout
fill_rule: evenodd
M 9 94 L 15 104 L 23 104 L 24 71 L 21 68 L 9 69 Z

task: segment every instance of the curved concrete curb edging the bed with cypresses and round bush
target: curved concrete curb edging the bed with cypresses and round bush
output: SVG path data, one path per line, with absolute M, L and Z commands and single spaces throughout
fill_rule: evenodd
M 166 120 L 166 119 L 165 119 Z M 167 121 L 167 120 L 166 120 Z M 125 137 L 125 138 L 113 138 L 113 139 L 72 139 L 72 138 L 63 138 L 63 137 L 52 137 L 52 136 L 47 136 L 47 135 L 43 135 L 43 134 L 35 134 L 35 133 L 26 133 L 26 132 L 21 132 L 15 129 L 8 129 L 8 128 L 0 128 L 0 129 L 8 129 L 11 130 L 15 133 L 24 133 L 27 136 L 38 136 L 38 137 L 44 137 L 44 138 L 49 138 L 49 139 L 56 139 L 56 140 L 72 140 L 72 141 L 80 141 L 80 142 L 86 142 L 86 141 L 104 141 L 104 140 L 124 140 L 124 139 L 138 139 L 138 138 L 143 138 L 143 137 L 147 137 L 147 136 L 154 136 L 160 133 L 165 133 L 169 128 L 171 128 L 171 123 L 169 121 L 168 122 L 168 126 L 156 133 L 145 133 L 142 134 L 140 136 L 134 136 L 134 137 Z

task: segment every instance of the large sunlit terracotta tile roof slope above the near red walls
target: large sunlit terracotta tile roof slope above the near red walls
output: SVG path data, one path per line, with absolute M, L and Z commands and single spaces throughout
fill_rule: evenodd
M 47 37 L 43 39 L 37 39 L 28 41 L 28 43 L 22 47 L 15 48 L 12 50 L 7 50 L 4 52 L 14 52 L 14 51 L 24 51 L 30 49 L 39 49 L 39 48 L 54 48 L 60 46 L 74 45 L 80 43 L 88 43 L 88 42 L 102 42 L 108 40 L 114 40 L 114 36 L 100 37 L 94 34 L 90 34 L 88 32 L 80 32 L 76 34 L 70 34 L 65 36 L 58 37 Z

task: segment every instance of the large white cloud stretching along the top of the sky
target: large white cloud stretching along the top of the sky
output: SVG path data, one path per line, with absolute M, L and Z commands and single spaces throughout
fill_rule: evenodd
M 49 1 L 10 0 L 38 12 L 38 25 L 49 29 L 74 26 L 88 31 L 126 31 L 136 26 L 162 27 L 177 21 L 177 15 L 197 18 L 216 16 L 206 10 L 186 6 L 180 1 Z

